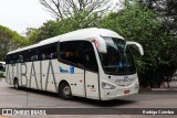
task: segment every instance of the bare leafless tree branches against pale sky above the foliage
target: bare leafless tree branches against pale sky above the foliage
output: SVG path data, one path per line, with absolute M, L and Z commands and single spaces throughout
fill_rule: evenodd
M 56 19 L 64 19 L 87 11 L 88 14 L 105 12 L 110 0 L 40 0 L 40 3 Z

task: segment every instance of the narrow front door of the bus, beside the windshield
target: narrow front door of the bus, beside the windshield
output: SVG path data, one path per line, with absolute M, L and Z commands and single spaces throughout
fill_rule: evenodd
M 92 43 L 84 50 L 85 97 L 98 98 L 98 66 Z M 85 46 L 86 47 L 86 46 Z

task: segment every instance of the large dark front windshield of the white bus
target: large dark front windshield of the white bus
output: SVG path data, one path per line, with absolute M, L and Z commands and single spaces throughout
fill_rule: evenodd
M 134 57 L 126 41 L 116 37 L 103 37 L 106 43 L 107 53 L 101 53 L 100 57 L 103 69 L 111 75 L 126 75 L 136 73 Z

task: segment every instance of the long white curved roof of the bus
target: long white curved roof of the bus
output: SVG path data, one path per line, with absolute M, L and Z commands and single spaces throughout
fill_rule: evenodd
M 112 36 L 112 37 L 118 37 L 118 39 L 124 40 L 123 36 L 118 35 L 114 31 L 111 31 L 107 29 L 88 28 L 88 29 L 81 29 L 81 30 L 76 30 L 73 32 L 69 32 L 69 33 L 58 35 L 54 37 L 50 37 L 50 39 L 43 40 L 37 44 L 11 51 L 8 54 L 18 53 L 21 51 L 30 50 L 33 47 L 46 45 L 46 44 L 59 42 L 59 41 L 64 42 L 64 41 L 72 41 L 72 40 L 74 40 L 74 41 L 75 40 L 85 40 L 85 39 L 94 37 L 94 36 Z

